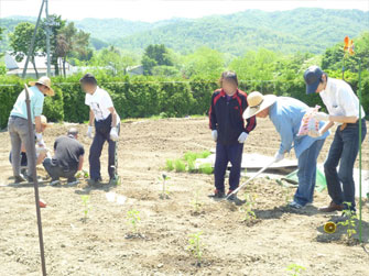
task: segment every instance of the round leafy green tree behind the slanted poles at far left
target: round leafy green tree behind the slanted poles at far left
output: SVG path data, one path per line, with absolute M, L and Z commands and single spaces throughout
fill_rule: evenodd
M 29 47 L 31 44 L 31 40 L 34 32 L 34 24 L 29 22 L 19 23 L 13 33 L 9 34 L 10 37 L 10 46 L 12 47 L 13 52 L 12 55 L 15 56 L 17 62 L 22 62 L 23 58 L 29 53 Z M 37 30 L 36 37 L 34 41 L 33 52 L 31 53 L 31 63 L 33 64 L 34 71 L 36 77 L 39 78 L 39 71 L 36 68 L 36 64 L 34 60 L 35 56 L 44 55 L 43 49 L 45 48 L 45 38 L 44 33 L 42 30 Z M 41 52 L 40 52 L 41 51 Z

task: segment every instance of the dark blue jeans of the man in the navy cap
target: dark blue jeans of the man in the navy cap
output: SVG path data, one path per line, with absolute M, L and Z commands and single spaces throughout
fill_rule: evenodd
M 367 134 L 366 121 L 362 120 L 361 143 Z M 332 200 L 341 205 L 350 202 L 355 210 L 354 164 L 359 152 L 359 123 L 348 123 L 341 131 L 337 128 L 330 145 L 328 157 L 324 163 L 328 194 Z M 339 170 L 337 166 L 339 163 Z

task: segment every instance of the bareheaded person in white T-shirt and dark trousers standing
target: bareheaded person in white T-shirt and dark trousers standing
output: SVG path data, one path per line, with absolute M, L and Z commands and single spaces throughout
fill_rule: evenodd
M 117 178 L 118 162 L 116 159 L 117 140 L 119 136 L 120 118 L 112 104 L 110 95 L 97 86 L 97 80 L 91 74 L 86 74 L 80 80 L 82 89 L 86 92 L 85 103 L 89 107 L 89 123 L 87 135 L 94 142 L 89 148 L 89 185 L 99 185 L 100 155 L 107 141 L 109 144 L 108 173 L 110 184 Z M 93 129 L 95 123 L 95 136 Z

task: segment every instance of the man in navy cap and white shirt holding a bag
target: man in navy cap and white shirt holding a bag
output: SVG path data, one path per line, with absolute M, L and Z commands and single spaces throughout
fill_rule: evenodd
M 338 123 L 328 157 L 324 164 L 328 194 L 332 202 L 321 208 L 323 212 L 351 209 L 356 211 L 354 164 L 359 151 L 359 123 L 361 123 L 361 143 L 367 134 L 365 112 L 351 87 L 340 79 L 328 78 L 317 66 L 311 66 L 304 74 L 306 93 L 319 93 L 329 114 L 318 112 L 316 119 L 327 123 L 313 135 L 319 136 Z M 359 111 L 361 109 L 361 120 Z M 337 166 L 339 163 L 339 172 Z M 341 188 L 343 186 L 343 188 Z

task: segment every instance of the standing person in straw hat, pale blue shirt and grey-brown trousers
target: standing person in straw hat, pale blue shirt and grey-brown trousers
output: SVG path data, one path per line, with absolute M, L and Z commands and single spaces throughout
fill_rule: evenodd
M 35 129 L 36 143 L 40 147 L 45 147 L 45 143 L 42 136 L 42 122 L 41 114 L 43 111 L 44 97 L 54 96 L 55 92 L 51 87 L 51 79 L 47 77 L 41 77 L 37 81 L 31 81 L 29 84 L 30 93 L 30 106 L 31 106 L 31 118 Z M 32 143 L 29 139 L 29 124 L 28 113 L 25 104 L 25 90 L 19 96 L 10 112 L 8 121 L 8 131 L 11 140 L 11 153 L 12 153 L 12 168 L 15 183 L 21 181 L 33 181 L 31 176 L 31 167 L 34 165 L 34 159 L 30 158 L 29 153 L 31 152 Z M 21 174 L 21 147 L 22 144 L 25 148 L 28 157 L 28 175 Z

